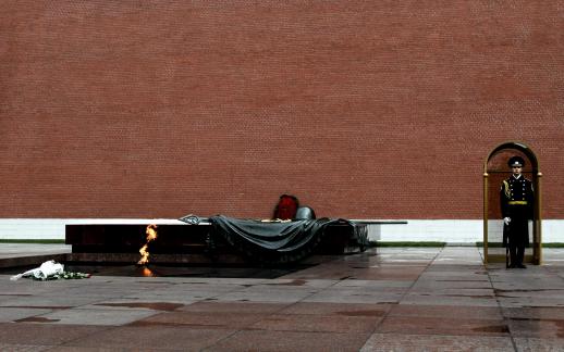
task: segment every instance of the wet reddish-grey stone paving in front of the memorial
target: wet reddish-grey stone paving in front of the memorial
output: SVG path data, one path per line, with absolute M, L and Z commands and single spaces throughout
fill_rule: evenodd
M 507 271 L 473 247 L 383 248 L 277 279 L 0 275 L 0 350 L 561 351 L 562 260 Z

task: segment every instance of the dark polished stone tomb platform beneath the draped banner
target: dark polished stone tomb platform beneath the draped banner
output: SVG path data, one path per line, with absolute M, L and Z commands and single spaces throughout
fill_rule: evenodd
M 249 219 L 234 219 L 223 217 L 223 221 L 237 221 L 236 226 L 243 226 L 245 230 L 253 228 L 252 232 L 241 235 L 230 228 L 218 229 L 209 222 L 198 225 L 150 225 L 150 224 L 72 224 L 65 226 L 65 244 L 72 247 L 72 253 L 66 257 L 72 262 L 98 262 L 98 263 L 135 263 L 139 260 L 139 249 L 147 244 L 150 252 L 150 261 L 162 264 L 243 264 L 256 262 L 258 255 L 265 255 L 273 263 L 292 262 L 310 254 L 347 254 L 363 252 L 368 247 L 367 224 L 359 222 L 333 221 L 322 228 L 322 236 L 312 237 L 305 231 L 304 226 L 295 227 L 296 238 L 318 238 L 318 241 L 304 241 L 294 251 L 268 251 L 268 244 L 261 250 L 256 243 L 265 240 L 266 236 L 275 238 L 269 232 L 272 227 L 280 228 L 281 223 L 260 222 Z M 297 224 L 299 221 L 297 221 Z M 311 222 L 322 222 L 321 219 Z M 250 225 L 248 224 L 250 223 Z M 235 225 L 229 225 L 235 226 Z M 235 227 L 236 227 L 235 226 Z M 147 240 L 147 230 L 152 229 L 154 239 Z M 259 228 L 259 229 L 257 229 Z M 306 227 L 308 228 L 308 227 Z M 301 229 L 301 230 L 299 230 Z M 262 230 L 262 232 L 261 232 Z M 238 229 L 241 231 L 241 229 Z M 289 228 L 281 231 L 289 231 Z M 225 237 L 244 238 L 255 236 L 255 243 L 249 240 L 238 240 L 237 246 Z M 253 235 L 252 235 L 253 234 Z M 257 234 L 261 234 L 260 236 Z M 287 234 L 286 234 L 287 235 Z M 279 239 L 285 238 L 282 232 Z M 294 236 L 294 235 L 293 235 Z M 314 244 L 304 246 L 312 242 Z M 244 243 L 245 246 L 242 246 Z M 271 243 L 272 244 L 272 243 Z M 279 246 L 279 244 L 272 244 Z M 253 248 L 253 250 L 250 250 Z M 310 249 L 308 249 L 310 248 Z M 305 252 L 306 254 L 301 254 Z M 279 256 L 290 256 L 290 260 L 277 261 Z

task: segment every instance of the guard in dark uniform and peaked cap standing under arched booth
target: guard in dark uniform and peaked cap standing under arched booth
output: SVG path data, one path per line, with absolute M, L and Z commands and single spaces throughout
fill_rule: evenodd
M 529 246 L 528 221 L 532 219 L 532 183 L 523 176 L 525 161 L 513 156 L 507 163 L 512 169 L 510 178 L 504 180 L 500 190 L 501 213 L 503 216 L 503 244 L 510 251 L 508 267 L 525 268 L 523 259 L 525 247 Z

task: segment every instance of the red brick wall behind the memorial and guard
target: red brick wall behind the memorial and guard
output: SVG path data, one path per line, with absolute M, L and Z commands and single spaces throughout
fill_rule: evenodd
M 2 1 L 0 217 L 480 218 L 537 153 L 564 218 L 564 7 Z

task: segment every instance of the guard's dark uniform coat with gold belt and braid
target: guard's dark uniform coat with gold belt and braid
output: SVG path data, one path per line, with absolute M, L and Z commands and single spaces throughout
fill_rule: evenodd
M 500 190 L 500 203 L 502 217 L 510 217 L 510 225 L 505 225 L 503 244 L 528 247 L 529 226 L 528 221 L 532 219 L 534 209 L 532 183 L 523 175 L 515 178 L 513 175 L 504 180 Z M 512 246 L 513 244 L 513 246 Z

